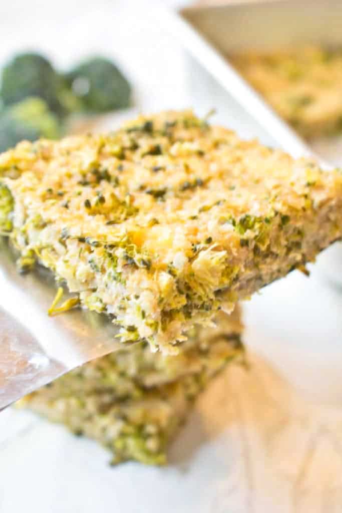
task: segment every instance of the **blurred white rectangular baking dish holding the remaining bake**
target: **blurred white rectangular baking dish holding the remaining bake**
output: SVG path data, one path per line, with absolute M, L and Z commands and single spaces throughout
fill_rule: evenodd
M 168 26 L 188 50 L 189 83 L 194 106 L 217 107 L 215 121 L 243 137 L 257 136 L 293 156 L 324 147 L 328 161 L 342 162 L 342 142 L 307 144 L 264 102 L 230 65 L 227 55 L 248 49 L 269 50 L 316 43 L 342 47 L 342 2 L 339 0 L 233 1 L 214 7 L 190 7 L 168 15 Z M 335 141 L 334 141 L 335 142 Z M 341 148 L 341 157 L 337 157 Z M 325 165 L 326 162 L 323 162 Z M 342 244 L 319 259 L 319 268 L 342 286 Z

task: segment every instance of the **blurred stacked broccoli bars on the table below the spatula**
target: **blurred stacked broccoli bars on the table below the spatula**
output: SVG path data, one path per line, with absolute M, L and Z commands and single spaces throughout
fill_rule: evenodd
M 216 328 L 196 328 L 177 356 L 151 353 L 147 342 L 75 369 L 19 401 L 113 452 L 113 463 L 166 462 L 168 442 L 197 394 L 230 361 L 243 361 L 238 311 Z

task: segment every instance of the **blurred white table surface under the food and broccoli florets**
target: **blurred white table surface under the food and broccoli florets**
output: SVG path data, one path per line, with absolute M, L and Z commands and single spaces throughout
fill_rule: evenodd
M 0 61 L 24 48 L 61 67 L 106 53 L 135 84 L 136 110 L 189 106 L 187 61 L 153 10 L 128 0 L 1 3 Z M 312 268 L 310 279 L 294 272 L 267 287 L 244 313 L 250 370 L 229 369 L 200 398 L 166 468 L 109 467 L 104 449 L 62 426 L 2 412 L 0 512 L 342 511 L 342 293 Z

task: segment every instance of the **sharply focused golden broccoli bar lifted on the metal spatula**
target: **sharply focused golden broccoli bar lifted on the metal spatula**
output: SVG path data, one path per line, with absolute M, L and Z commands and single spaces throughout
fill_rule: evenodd
M 176 353 L 342 235 L 342 174 L 242 141 L 191 111 L 0 156 L 2 232 L 123 341 Z

